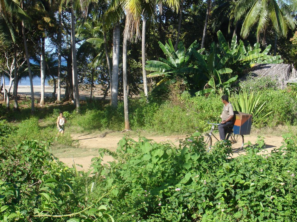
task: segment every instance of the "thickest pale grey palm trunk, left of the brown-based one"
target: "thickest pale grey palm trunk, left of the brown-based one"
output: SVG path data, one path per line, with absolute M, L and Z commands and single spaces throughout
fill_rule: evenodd
M 113 49 L 112 49 L 112 86 L 111 105 L 118 105 L 119 87 L 119 57 L 120 57 L 120 25 L 117 23 L 113 28 Z

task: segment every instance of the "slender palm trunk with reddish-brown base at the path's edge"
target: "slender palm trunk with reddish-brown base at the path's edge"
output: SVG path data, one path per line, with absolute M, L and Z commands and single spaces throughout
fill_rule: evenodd
M 124 34 L 124 40 L 123 40 L 123 91 L 124 91 L 125 129 L 130 130 L 129 111 L 128 111 L 128 88 L 127 88 L 127 35 L 125 34 Z

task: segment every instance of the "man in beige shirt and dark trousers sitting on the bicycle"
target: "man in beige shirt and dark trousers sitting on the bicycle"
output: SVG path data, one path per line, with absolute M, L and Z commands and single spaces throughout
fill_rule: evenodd
M 232 107 L 232 104 L 229 102 L 229 98 L 227 95 L 222 96 L 222 103 L 224 103 L 223 112 L 221 115 L 222 122 L 218 126 L 221 140 L 226 139 L 226 129 L 230 128 L 231 126 L 234 125 L 234 123 L 233 123 L 233 116 L 234 116 L 233 107 Z

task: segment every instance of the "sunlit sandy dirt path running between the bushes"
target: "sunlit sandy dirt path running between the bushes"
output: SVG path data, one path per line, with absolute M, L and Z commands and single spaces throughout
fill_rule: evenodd
M 91 164 L 91 159 L 96 157 L 98 154 L 99 148 L 106 148 L 111 151 L 115 151 L 117 148 L 117 143 L 122 139 L 124 135 L 121 133 L 109 133 L 105 137 L 101 138 L 100 134 L 96 133 L 84 133 L 84 134 L 73 134 L 72 138 L 79 141 L 79 150 L 68 151 L 64 153 L 56 153 L 55 155 L 69 167 L 72 166 L 73 160 L 76 164 L 80 164 L 83 167 L 78 167 L 78 170 L 88 170 Z M 218 135 L 215 135 L 218 137 Z M 244 141 L 250 141 L 252 144 L 255 144 L 258 135 L 246 135 L 244 136 Z M 266 148 L 264 152 L 271 152 L 275 148 L 279 148 L 282 145 L 281 136 L 273 135 L 261 135 L 265 137 Z M 174 144 L 178 145 L 178 139 L 185 138 L 185 135 L 175 135 L 175 136 L 146 136 L 147 139 L 152 139 L 156 142 L 161 142 L 165 140 L 170 140 Z M 138 141 L 138 137 L 133 136 L 133 139 Z M 233 154 L 233 157 L 241 155 L 241 153 Z M 105 156 L 103 158 L 103 163 L 113 161 L 113 158 L 110 156 Z

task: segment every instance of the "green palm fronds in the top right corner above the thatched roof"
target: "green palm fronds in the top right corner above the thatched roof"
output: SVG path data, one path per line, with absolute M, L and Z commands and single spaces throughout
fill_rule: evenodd
M 246 38 L 257 25 L 257 42 L 263 34 L 262 44 L 266 44 L 266 30 L 271 24 L 276 35 L 287 36 L 288 28 L 294 29 L 296 24 L 294 13 L 297 2 L 295 0 L 239 0 L 235 7 L 235 20 L 245 16 L 241 28 L 241 36 Z

